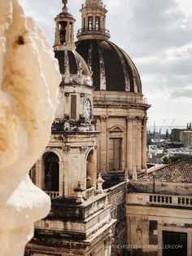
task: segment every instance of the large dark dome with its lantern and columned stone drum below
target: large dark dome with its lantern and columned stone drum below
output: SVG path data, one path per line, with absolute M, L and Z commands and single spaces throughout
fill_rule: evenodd
M 146 110 L 142 83 L 133 61 L 109 40 L 106 6 L 85 1 L 76 51 L 93 72 L 98 172 L 146 169 Z

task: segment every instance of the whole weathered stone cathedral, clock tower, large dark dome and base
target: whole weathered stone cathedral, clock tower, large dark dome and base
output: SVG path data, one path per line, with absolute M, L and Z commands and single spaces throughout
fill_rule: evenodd
M 127 178 L 146 170 L 150 105 L 133 61 L 109 41 L 106 14 L 101 0 L 86 0 L 76 44 L 67 1 L 55 17 L 59 107 L 50 143 L 31 170 L 52 207 L 36 223 L 28 256 L 128 254 L 118 247 L 128 241 Z

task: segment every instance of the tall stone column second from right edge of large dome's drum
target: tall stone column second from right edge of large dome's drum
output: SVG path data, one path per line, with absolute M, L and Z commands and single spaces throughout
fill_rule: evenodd
M 142 118 L 137 117 L 137 170 L 142 167 Z

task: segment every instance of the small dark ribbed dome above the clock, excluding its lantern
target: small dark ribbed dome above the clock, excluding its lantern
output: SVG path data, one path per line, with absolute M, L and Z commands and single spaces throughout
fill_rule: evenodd
M 89 68 L 85 60 L 75 50 L 57 50 L 55 58 L 59 61 L 64 84 L 92 86 Z

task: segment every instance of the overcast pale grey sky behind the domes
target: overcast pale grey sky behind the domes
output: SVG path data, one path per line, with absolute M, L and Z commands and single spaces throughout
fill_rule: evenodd
M 60 0 L 20 0 L 53 45 L 54 17 Z M 69 0 L 69 12 L 81 29 L 81 4 Z M 149 125 L 185 126 L 192 121 L 192 1 L 103 0 L 107 29 L 133 59 L 142 78 L 143 93 L 151 104 Z M 165 122 L 164 122 L 165 120 Z

